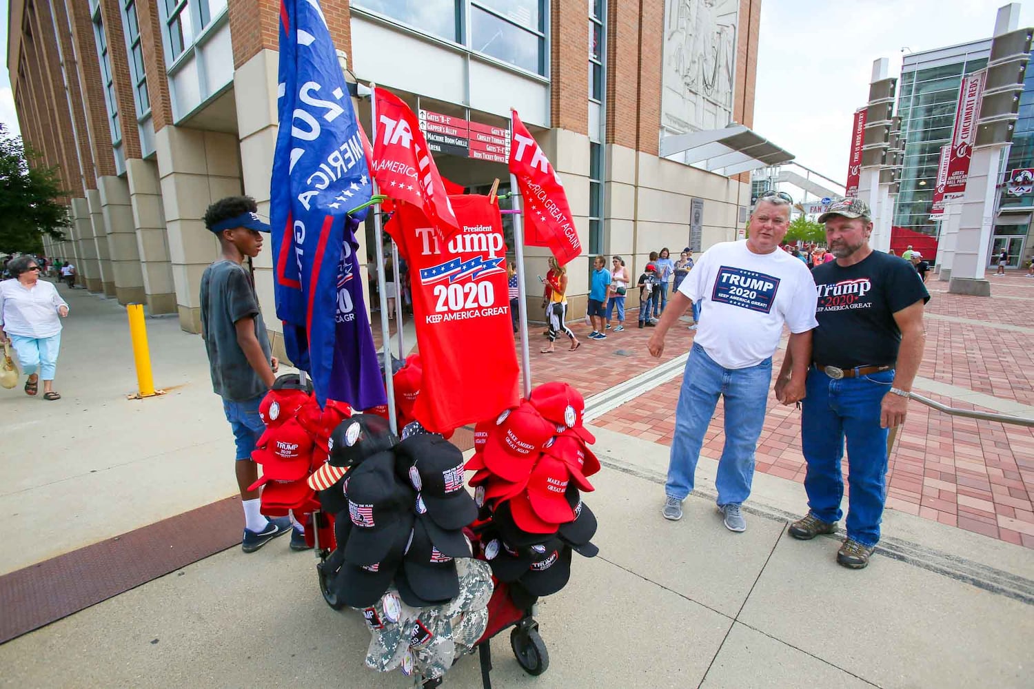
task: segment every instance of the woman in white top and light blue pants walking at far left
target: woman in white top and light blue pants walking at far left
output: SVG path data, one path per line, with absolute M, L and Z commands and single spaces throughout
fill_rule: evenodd
M 61 346 L 61 321 L 68 305 L 50 282 L 39 279 L 39 262 L 19 256 L 7 264 L 14 277 L 0 282 L 0 342 L 10 338 L 25 372 L 25 394 L 35 396 L 43 379 L 43 399 L 60 400 L 54 372 Z

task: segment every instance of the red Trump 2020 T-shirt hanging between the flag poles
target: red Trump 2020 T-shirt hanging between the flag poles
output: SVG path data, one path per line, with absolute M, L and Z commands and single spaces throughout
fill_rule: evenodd
M 507 292 L 499 209 L 487 196 L 452 196 L 461 231 L 448 242 L 419 209 L 399 205 L 389 225 L 413 277 L 423 365 L 414 415 L 448 432 L 517 406 L 519 370 Z

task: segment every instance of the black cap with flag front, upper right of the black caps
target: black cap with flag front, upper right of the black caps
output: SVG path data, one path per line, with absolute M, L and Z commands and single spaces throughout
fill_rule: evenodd
M 463 452 L 436 435 L 409 436 L 398 444 L 399 469 L 443 529 L 462 529 L 478 519 L 478 506 L 463 486 Z M 432 534 L 433 535 L 433 534 Z

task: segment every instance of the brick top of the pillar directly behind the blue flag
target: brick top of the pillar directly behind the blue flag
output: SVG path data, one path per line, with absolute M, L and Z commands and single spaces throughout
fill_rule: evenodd
M 229 0 L 230 33 L 234 42 L 234 68 L 238 68 L 263 50 L 275 51 L 280 42 L 279 0 Z M 352 64 L 352 29 L 348 2 L 322 3 L 327 27 L 334 45 L 344 51 Z

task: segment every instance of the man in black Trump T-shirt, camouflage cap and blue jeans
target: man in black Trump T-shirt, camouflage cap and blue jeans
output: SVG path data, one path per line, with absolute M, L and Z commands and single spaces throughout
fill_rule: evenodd
M 790 535 L 809 540 L 837 532 L 846 437 L 850 508 L 837 561 L 860 569 L 880 539 L 887 433 L 905 420 L 922 359 L 922 313 L 930 293 L 909 261 L 870 248 L 872 214 L 863 201 L 837 201 L 819 222 L 825 223 L 837 260 L 812 271 L 819 326 L 813 331 L 800 419 L 810 509 L 790 526 Z M 791 366 L 788 354 L 776 383 L 781 402 Z

